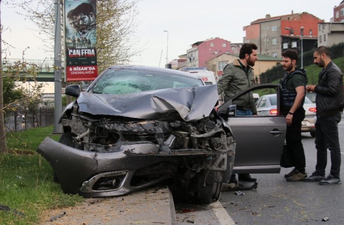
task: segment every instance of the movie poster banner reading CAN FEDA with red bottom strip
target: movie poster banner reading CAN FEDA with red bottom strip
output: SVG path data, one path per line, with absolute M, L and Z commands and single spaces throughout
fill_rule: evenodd
M 65 0 L 66 80 L 94 80 L 98 76 L 95 0 Z

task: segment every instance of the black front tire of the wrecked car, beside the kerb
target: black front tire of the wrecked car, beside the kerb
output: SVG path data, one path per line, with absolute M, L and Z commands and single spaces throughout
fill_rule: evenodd
M 219 174 L 219 171 L 204 169 L 199 173 L 199 187 L 198 191 L 195 192 L 195 200 L 198 204 L 211 204 L 219 199 L 222 187 L 222 183 L 217 182 L 217 175 Z

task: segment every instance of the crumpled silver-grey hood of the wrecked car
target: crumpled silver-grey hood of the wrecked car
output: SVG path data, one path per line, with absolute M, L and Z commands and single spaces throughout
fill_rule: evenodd
M 168 88 L 127 95 L 82 92 L 77 99 L 79 112 L 92 115 L 156 119 L 170 110 L 185 121 L 209 116 L 218 100 L 217 85 L 196 88 Z

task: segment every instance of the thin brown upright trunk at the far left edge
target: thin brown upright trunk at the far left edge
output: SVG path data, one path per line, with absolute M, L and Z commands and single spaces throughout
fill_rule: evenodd
M 1 28 L 1 0 L 0 0 L 0 28 Z M 3 92 L 3 62 L 1 48 L 1 32 L 0 29 L 0 154 L 8 153 L 5 136 L 5 120 L 4 120 L 4 92 Z

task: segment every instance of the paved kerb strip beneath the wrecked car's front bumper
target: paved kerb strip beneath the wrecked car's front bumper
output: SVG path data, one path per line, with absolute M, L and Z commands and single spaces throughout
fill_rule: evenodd
M 41 224 L 175 225 L 177 222 L 173 197 L 166 187 L 120 197 L 87 198 L 83 205 L 47 212 Z

